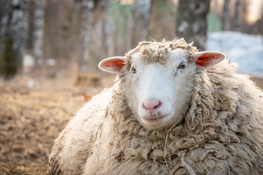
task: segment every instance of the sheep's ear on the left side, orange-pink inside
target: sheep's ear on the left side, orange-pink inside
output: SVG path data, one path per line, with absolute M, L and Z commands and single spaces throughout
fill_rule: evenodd
M 102 60 L 99 63 L 99 68 L 107 72 L 120 73 L 125 65 L 124 57 L 110 57 Z

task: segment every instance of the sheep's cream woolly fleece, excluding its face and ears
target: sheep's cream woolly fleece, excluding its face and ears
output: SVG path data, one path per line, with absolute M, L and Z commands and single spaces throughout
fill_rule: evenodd
M 153 50 L 154 44 L 158 48 Z M 126 60 L 141 52 L 146 62 L 159 62 L 167 47 L 187 50 L 189 62 L 197 52 L 183 39 L 141 42 Z M 125 100 L 129 66 L 117 76 L 116 91 L 94 97 L 98 101 L 87 103 L 59 135 L 62 147 L 56 140 L 49 174 L 263 173 L 263 94 L 249 76 L 235 73 L 227 61 L 194 70 L 188 77 L 193 90 L 185 117 L 169 130 L 148 130 Z

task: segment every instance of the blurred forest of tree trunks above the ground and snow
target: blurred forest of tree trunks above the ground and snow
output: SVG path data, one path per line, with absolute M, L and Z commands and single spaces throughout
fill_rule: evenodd
M 0 73 L 102 74 L 100 60 L 151 38 L 185 37 L 202 51 L 212 32 L 262 35 L 262 14 L 261 0 L 0 0 Z

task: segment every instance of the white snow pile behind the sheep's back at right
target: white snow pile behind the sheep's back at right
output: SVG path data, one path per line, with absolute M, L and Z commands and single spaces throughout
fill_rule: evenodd
M 238 63 L 237 72 L 263 77 L 263 37 L 234 31 L 208 34 L 206 50 L 226 55 L 230 63 Z

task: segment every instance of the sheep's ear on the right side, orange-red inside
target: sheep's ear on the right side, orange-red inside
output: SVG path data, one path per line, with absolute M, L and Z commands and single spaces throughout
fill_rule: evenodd
M 225 54 L 221 52 L 197 52 L 195 53 L 195 63 L 198 66 L 209 68 L 215 66 L 225 59 Z

